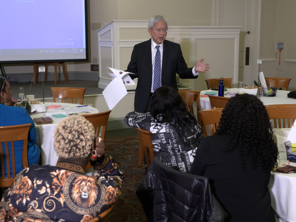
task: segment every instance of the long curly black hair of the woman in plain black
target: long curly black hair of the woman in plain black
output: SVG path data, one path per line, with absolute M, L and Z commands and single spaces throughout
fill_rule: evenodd
M 222 111 L 216 135 L 230 135 L 228 146 L 223 152 L 229 152 L 239 144 L 245 172 L 247 156 L 251 157 L 254 169 L 258 163 L 264 172 L 278 166 L 278 148 L 272 138 L 270 119 L 265 106 L 256 96 L 236 94 L 230 98 Z

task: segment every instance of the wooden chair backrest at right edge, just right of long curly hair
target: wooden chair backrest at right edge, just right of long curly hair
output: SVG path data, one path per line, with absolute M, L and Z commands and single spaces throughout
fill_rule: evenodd
M 269 119 L 273 120 L 274 128 L 290 128 L 296 119 L 296 104 L 266 105 L 265 109 Z

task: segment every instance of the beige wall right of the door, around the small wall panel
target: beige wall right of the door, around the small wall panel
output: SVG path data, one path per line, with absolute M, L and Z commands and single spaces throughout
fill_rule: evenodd
M 262 0 L 260 59 L 263 60 L 260 71 L 266 77 L 291 78 L 289 90 L 296 90 L 296 1 Z M 286 41 L 285 70 L 274 68 L 277 40 Z M 264 61 L 267 60 L 267 61 Z

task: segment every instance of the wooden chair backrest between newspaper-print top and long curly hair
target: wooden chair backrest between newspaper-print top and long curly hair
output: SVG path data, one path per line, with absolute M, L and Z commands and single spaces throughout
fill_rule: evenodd
M 197 120 L 204 131 L 205 137 L 208 136 L 206 125 L 209 125 L 211 136 L 215 134 L 216 129 L 220 122 L 223 109 L 224 108 L 207 109 L 207 110 L 199 111 L 197 113 Z

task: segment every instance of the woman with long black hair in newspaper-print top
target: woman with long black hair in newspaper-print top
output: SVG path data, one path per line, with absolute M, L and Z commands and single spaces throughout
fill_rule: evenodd
M 167 166 L 186 173 L 190 171 L 204 132 L 174 88 L 157 88 L 150 113 L 128 113 L 125 123 L 152 133 L 154 155 Z

